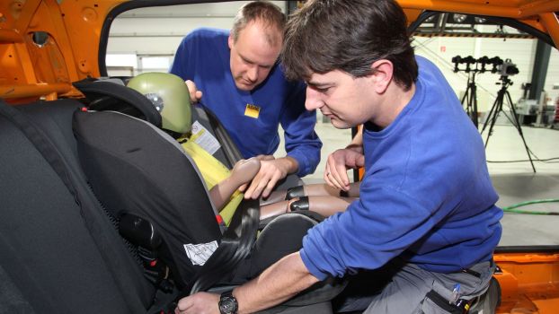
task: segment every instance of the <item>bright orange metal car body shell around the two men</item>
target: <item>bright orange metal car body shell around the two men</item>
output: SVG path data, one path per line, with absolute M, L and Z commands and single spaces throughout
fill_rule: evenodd
M 102 29 L 126 0 L 0 2 L 0 98 L 13 104 L 81 97 L 72 82 L 99 77 Z M 409 22 L 424 10 L 508 17 L 547 33 L 559 47 L 556 0 L 399 0 Z M 39 47 L 33 35 L 44 35 Z M 559 254 L 497 253 L 498 313 L 559 312 Z

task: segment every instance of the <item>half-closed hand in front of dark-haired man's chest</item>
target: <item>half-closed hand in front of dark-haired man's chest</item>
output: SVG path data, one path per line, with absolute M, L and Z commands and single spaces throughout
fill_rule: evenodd
M 349 191 L 350 179 L 347 170 L 364 165 L 365 157 L 362 153 L 349 148 L 339 149 L 328 156 L 326 169 L 324 170 L 324 181 L 333 188 Z

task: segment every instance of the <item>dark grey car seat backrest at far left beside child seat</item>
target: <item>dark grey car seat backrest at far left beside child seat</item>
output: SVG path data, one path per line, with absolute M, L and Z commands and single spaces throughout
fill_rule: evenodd
M 75 100 L 0 100 L 0 312 L 146 313 L 155 287 L 86 185 Z

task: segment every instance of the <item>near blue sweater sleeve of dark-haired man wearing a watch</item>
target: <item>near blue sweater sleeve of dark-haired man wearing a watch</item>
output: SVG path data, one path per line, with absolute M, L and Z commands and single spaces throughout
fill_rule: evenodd
M 316 225 L 303 240 L 303 262 L 319 279 L 381 267 L 433 226 L 430 212 L 412 197 L 394 188 L 364 184 L 361 198 L 346 212 Z

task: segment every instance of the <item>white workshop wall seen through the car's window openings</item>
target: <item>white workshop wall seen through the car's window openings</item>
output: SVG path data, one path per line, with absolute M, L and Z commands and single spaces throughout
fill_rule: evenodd
M 184 35 L 200 26 L 229 29 L 238 8 L 246 2 L 183 4 L 136 9 L 122 13 L 111 27 L 107 65 L 123 65 L 121 58 L 115 61 L 115 57 L 129 54 L 132 57 L 128 58 L 132 60 L 126 65 L 134 66 L 134 74 L 142 71 L 166 72 L 173 60 L 174 51 Z M 285 1 L 273 2 L 285 12 L 287 5 Z M 492 26 L 484 26 L 484 28 L 480 31 L 494 31 Z M 464 72 L 453 72 L 452 57 L 498 56 L 503 60 L 510 58 L 519 68 L 519 74 L 510 76 L 513 85 L 510 86 L 509 92 L 514 102 L 522 96 L 522 83 L 531 81 L 536 45 L 536 39 L 466 37 L 414 39 L 416 53 L 428 57 L 439 65 L 458 96 L 466 91 L 467 76 Z M 112 70 L 110 67 L 109 70 L 110 74 L 129 73 L 128 68 L 122 71 L 116 68 Z M 498 74 L 485 73 L 476 76 L 480 111 L 491 108 L 495 95 L 500 89 L 500 85 L 495 84 L 497 82 L 499 82 Z M 545 85 L 545 90 L 550 92 L 553 98 L 559 93 L 559 91 L 552 91 L 554 83 L 559 83 L 559 52 L 555 48 L 551 52 Z

